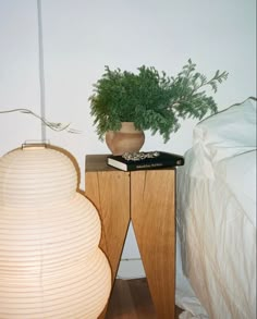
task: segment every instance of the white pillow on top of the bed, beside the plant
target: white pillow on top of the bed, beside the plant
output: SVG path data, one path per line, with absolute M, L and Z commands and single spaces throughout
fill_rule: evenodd
M 256 99 L 213 114 L 194 128 L 193 145 L 203 144 L 212 162 L 256 149 Z

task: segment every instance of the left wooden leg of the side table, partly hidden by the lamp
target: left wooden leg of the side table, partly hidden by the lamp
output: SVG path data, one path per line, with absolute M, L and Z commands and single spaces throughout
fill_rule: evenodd
M 86 197 L 96 206 L 101 219 L 100 248 L 117 275 L 130 224 L 130 175 L 123 172 L 87 172 Z M 99 318 L 105 318 L 107 308 Z

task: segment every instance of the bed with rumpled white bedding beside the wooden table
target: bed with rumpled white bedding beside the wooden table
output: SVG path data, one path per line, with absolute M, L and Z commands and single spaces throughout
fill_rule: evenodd
M 198 123 L 178 168 L 180 318 L 256 318 L 256 99 Z

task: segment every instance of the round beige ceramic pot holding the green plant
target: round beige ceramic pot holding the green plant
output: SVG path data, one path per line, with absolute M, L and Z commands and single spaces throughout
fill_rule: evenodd
M 113 155 L 139 151 L 145 143 L 145 134 L 136 130 L 133 122 L 122 122 L 120 131 L 107 132 L 106 143 Z

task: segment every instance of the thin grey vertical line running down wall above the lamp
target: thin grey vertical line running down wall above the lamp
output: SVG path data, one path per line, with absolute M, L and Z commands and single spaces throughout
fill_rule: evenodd
M 42 19 L 41 1 L 37 0 L 37 22 L 38 22 L 38 66 L 39 66 L 39 90 L 40 90 L 40 115 L 46 119 L 46 90 L 45 90 L 45 70 L 44 70 L 44 46 L 42 46 Z M 46 125 L 41 122 L 41 142 L 46 138 Z

